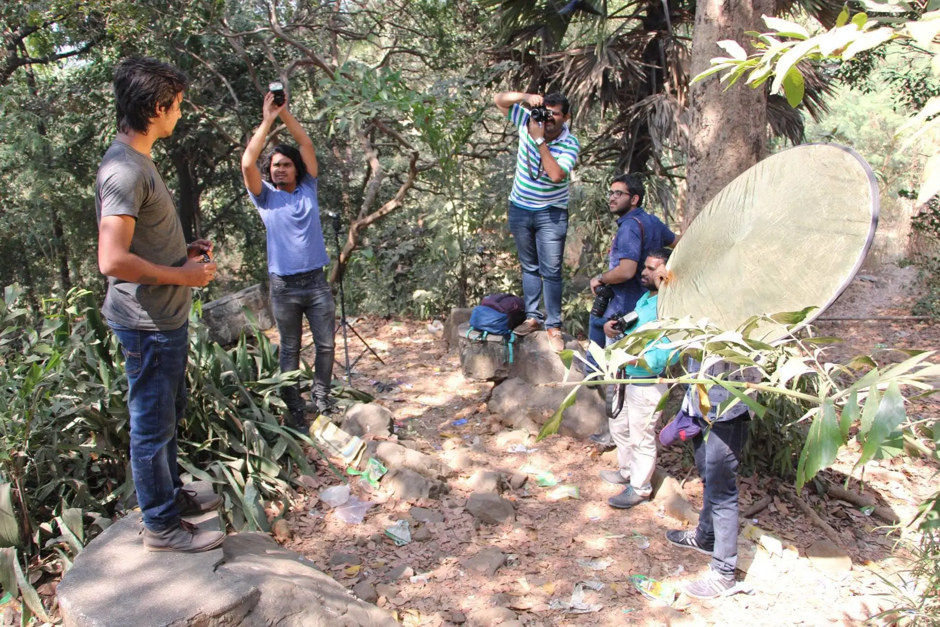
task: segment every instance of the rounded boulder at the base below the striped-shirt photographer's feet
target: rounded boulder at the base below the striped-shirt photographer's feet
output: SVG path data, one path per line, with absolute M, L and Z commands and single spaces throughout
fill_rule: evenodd
M 526 336 L 529 337 L 529 336 Z M 557 355 L 552 353 L 557 360 Z M 535 431 L 532 425 L 536 422 L 544 423 L 544 415 L 555 413 L 562 400 L 567 396 L 569 389 L 540 387 L 537 383 L 548 383 L 550 381 L 561 381 L 564 378 L 564 368 L 558 361 L 558 367 L 561 368 L 557 379 L 545 378 L 544 381 L 529 382 L 523 377 L 517 376 L 507 379 L 493 388 L 493 396 L 487 404 L 487 409 L 496 415 L 501 416 L 504 424 L 513 426 L 525 426 L 527 429 Z M 531 376 L 543 374 L 544 368 L 531 368 Z M 582 377 L 580 374 L 572 373 L 570 379 L 577 381 Z M 575 396 L 575 403 L 565 410 L 562 418 L 562 429 L 559 430 L 563 435 L 571 435 L 580 440 L 596 431 L 606 423 L 607 415 L 604 408 L 603 399 L 596 389 L 583 387 L 578 390 Z

